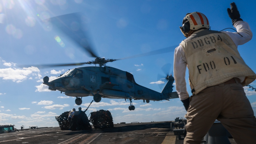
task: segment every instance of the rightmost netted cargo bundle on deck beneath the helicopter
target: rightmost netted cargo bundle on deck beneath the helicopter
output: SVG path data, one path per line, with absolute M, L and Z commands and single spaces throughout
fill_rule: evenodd
M 113 118 L 108 110 L 98 110 L 91 112 L 90 121 L 94 128 L 112 128 L 114 127 Z

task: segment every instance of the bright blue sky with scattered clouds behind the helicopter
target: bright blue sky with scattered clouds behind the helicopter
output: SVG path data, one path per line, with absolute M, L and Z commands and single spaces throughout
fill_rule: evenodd
M 48 91 L 42 84 L 44 76 L 57 77 L 68 69 L 22 68 L 22 64 L 74 63 L 93 60 L 87 53 L 57 29 L 46 27 L 42 19 L 63 14 L 83 12 L 86 14 L 88 35 L 91 44 L 100 57 L 119 59 L 149 51 L 170 47 L 162 54 L 125 59 L 108 63 L 107 66 L 128 71 L 136 83 L 161 92 L 162 85 L 156 84 L 163 65 L 173 64 L 173 51 L 185 39 L 179 26 L 187 13 L 201 12 L 209 20 L 212 30 L 233 28 L 228 17 L 226 1 L 92 1 L 92 0 L 2 0 L 0 1 L 0 125 L 54 127 L 59 126 L 55 116 L 72 108 L 78 109 L 75 98 Z M 250 24 L 256 33 L 254 13 L 255 1 L 234 1 L 241 18 Z M 233 31 L 228 29 L 228 31 Z M 65 46 L 55 40 L 59 36 Z M 255 37 L 239 46 L 244 61 L 256 71 Z M 92 65 L 83 65 L 92 66 Z M 172 67 L 170 71 L 172 71 Z M 188 80 L 188 74 L 186 76 Z M 250 84 L 256 87 L 255 81 Z M 174 84 L 175 86 L 175 84 Z M 160 87 L 160 88 L 159 88 Z M 187 85 L 188 91 L 189 85 Z M 247 97 L 256 112 L 256 92 L 244 87 Z M 175 87 L 174 87 L 174 91 Z M 85 110 L 93 100 L 83 97 Z M 186 114 L 182 102 L 177 99 L 143 103 L 133 100 L 135 110 L 128 110 L 130 102 L 124 99 L 102 98 L 93 102 L 86 112 L 109 110 L 114 123 L 168 121 Z

